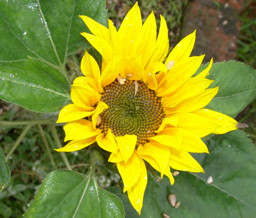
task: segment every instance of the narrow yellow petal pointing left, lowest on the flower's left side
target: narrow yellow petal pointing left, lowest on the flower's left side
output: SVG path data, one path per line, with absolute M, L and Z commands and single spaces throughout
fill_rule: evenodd
M 77 151 L 83 149 L 96 141 L 96 136 L 92 136 L 90 138 L 84 140 L 72 140 L 63 148 L 54 149 L 58 152 L 70 152 L 70 151 Z

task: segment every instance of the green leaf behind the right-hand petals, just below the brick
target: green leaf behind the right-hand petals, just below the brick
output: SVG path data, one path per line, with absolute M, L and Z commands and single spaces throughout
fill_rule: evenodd
M 219 91 L 206 106 L 236 117 L 256 98 L 256 70 L 234 60 L 214 63 L 208 79 L 214 80 L 211 87 L 219 86 Z

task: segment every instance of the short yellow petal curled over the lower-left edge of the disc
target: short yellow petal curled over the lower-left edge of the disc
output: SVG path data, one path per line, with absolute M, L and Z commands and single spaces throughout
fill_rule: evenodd
M 108 129 L 108 133 L 105 137 L 104 137 L 104 134 L 101 133 L 97 136 L 96 139 L 97 139 L 98 145 L 102 149 L 112 152 L 112 153 L 115 153 L 115 154 L 118 153 L 119 148 L 118 148 L 117 142 L 115 142 L 115 136 L 111 133 L 110 129 Z

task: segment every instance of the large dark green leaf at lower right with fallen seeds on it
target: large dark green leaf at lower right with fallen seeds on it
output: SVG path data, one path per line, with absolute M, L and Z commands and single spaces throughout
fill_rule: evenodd
M 256 147 L 240 130 L 214 136 L 207 144 L 210 154 L 195 155 L 205 174 L 180 172 L 172 186 L 166 176 L 159 183 L 149 174 L 141 217 L 255 216 Z M 210 175 L 213 183 L 206 184 Z M 169 204 L 169 194 L 176 195 L 179 208 Z M 125 211 L 130 211 L 124 202 Z

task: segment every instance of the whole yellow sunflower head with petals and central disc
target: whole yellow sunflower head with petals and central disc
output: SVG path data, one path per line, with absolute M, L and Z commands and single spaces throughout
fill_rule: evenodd
M 117 31 L 80 16 L 92 34 L 82 33 L 102 56 L 101 68 L 87 52 L 81 62 L 84 76 L 74 80 L 73 104 L 65 106 L 57 122 L 66 122 L 65 141 L 57 151 L 76 151 L 97 142 L 116 163 L 132 206 L 140 214 L 147 185 L 145 163 L 168 176 L 173 170 L 204 172 L 190 152 L 206 152 L 202 137 L 236 130 L 225 114 L 204 109 L 217 94 L 206 79 L 213 61 L 193 76 L 204 55 L 190 57 L 195 32 L 168 55 L 165 19 L 157 27 L 152 12 L 142 23 L 137 3 Z

